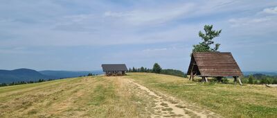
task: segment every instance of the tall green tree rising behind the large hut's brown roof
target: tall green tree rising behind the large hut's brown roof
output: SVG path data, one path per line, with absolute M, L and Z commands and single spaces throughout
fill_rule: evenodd
M 214 48 L 211 48 L 211 44 L 214 44 L 213 38 L 220 36 L 220 31 L 213 30 L 213 25 L 204 26 L 205 33 L 199 31 L 199 37 L 202 38 L 203 42 L 193 45 L 193 52 L 207 52 L 207 51 L 217 51 L 220 47 L 220 44 L 215 44 Z

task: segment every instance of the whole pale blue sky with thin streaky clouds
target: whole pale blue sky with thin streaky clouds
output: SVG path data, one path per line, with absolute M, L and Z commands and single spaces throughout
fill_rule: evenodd
M 0 0 L 0 69 L 187 71 L 205 24 L 242 71 L 277 71 L 276 0 Z

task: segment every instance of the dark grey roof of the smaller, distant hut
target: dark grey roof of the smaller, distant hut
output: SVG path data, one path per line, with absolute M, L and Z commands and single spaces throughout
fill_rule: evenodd
M 128 71 L 125 64 L 103 64 L 103 71 Z

